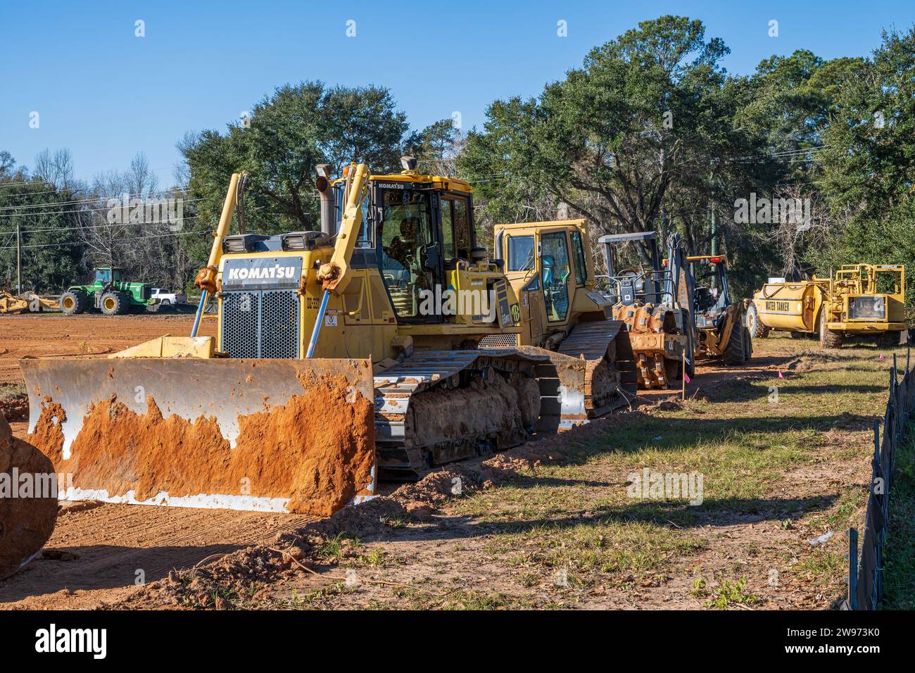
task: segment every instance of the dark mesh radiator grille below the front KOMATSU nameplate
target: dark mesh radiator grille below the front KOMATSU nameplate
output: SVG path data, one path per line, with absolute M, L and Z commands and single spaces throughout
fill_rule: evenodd
M 296 358 L 296 290 L 226 292 L 222 297 L 222 350 L 235 358 Z

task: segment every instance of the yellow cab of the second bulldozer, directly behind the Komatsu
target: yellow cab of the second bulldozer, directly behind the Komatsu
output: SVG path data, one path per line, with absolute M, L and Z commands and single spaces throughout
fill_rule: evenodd
M 497 224 L 495 255 L 521 299 L 525 341 L 565 331 L 582 314 L 609 307 L 595 291 L 584 220 Z

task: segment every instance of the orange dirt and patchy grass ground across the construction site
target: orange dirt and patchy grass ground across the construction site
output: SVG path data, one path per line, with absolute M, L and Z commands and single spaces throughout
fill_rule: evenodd
M 0 317 L 0 376 L 19 383 L 26 354 L 101 354 L 189 324 Z M 0 582 L 0 608 L 828 608 L 888 361 L 871 346 L 756 348 L 745 367 L 700 364 L 685 402 L 640 395 L 331 519 L 65 506 L 42 556 Z M 705 505 L 627 500 L 642 466 L 705 472 Z

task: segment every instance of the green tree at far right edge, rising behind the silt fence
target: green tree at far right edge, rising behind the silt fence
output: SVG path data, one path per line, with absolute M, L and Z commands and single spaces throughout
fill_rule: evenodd
M 885 31 L 834 100 L 818 176 L 833 229 L 809 258 L 915 269 L 915 28 Z

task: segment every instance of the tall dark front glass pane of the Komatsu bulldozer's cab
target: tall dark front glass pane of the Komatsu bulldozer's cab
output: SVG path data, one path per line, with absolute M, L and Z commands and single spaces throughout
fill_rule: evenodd
M 377 233 L 384 284 L 400 318 L 419 317 L 420 292 L 432 289 L 423 261 L 432 238 L 428 193 L 384 190 L 382 223 Z

